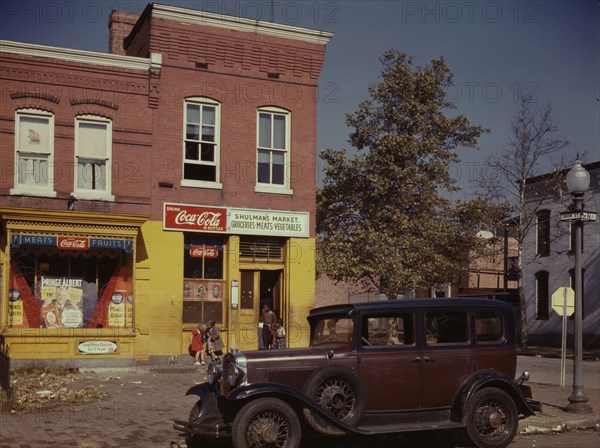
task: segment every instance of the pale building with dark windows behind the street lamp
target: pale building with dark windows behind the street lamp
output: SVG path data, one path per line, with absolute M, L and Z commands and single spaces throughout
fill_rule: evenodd
M 600 162 L 584 165 L 590 173 L 585 210 L 600 212 Z M 535 210 L 535 227 L 523 241 L 523 291 L 527 307 L 528 340 L 531 345 L 561 346 L 562 317 L 552 307 L 552 295 L 561 287 L 575 285 L 574 232 L 560 213 L 569 210 L 572 197 L 565 178 L 568 170 L 527 179 L 527 206 Z M 548 192 L 552 192 L 549 194 Z M 545 200 L 539 205 L 539 197 Z M 537 207 L 534 208 L 534 207 Z M 600 348 L 600 222 L 583 226 L 583 348 Z M 568 319 L 573 334 L 573 319 Z M 572 342 L 569 341 L 569 347 Z

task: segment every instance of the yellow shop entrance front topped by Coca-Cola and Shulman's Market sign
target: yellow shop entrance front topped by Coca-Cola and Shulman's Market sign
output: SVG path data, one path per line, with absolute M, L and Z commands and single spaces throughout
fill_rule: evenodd
M 261 348 L 260 310 L 283 321 L 287 346 L 306 345 L 314 303 L 314 239 L 305 212 L 164 204 L 165 257 L 181 265 L 181 348 L 215 320 L 226 347 Z M 173 250 L 179 247 L 180 250 Z

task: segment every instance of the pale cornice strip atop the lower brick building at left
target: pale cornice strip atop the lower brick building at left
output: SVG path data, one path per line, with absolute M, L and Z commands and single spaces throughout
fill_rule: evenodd
M 13 53 L 21 56 L 52 58 L 79 64 L 101 65 L 104 67 L 128 70 L 148 71 L 151 67 L 150 59 L 146 58 L 121 56 L 117 54 L 100 53 L 86 50 L 73 50 L 62 47 L 50 47 L 47 45 L 29 44 L 9 40 L 0 40 L 0 53 Z

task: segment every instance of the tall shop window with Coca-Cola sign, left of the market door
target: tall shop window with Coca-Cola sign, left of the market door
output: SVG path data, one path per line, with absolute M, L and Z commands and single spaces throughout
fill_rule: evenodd
M 223 239 L 185 235 L 183 323 L 223 321 Z

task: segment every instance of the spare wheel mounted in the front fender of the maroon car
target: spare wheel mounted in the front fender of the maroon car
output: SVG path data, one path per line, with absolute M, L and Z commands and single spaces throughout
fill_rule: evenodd
M 343 366 L 327 366 L 314 371 L 304 385 L 304 393 L 332 416 L 351 426 L 358 423 L 367 406 L 362 381 Z M 328 435 L 344 434 L 310 409 L 304 410 L 304 416 L 315 431 Z

